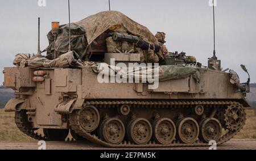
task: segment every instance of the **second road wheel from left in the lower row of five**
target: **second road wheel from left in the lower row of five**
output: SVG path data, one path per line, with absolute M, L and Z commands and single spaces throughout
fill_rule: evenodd
M 127 134 L 131 142 L 137 145 L 145 145 L 152 137 L 152 126 L 145 118 L 135 118 L 130 122 Z

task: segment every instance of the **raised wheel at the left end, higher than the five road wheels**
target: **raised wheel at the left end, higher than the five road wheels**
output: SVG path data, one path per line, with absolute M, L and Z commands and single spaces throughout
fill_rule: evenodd
M 93 105 L 87 105 L 79 111 L 79 123 L 86 132 L 93 132 L 100 123 L 100 113 Z

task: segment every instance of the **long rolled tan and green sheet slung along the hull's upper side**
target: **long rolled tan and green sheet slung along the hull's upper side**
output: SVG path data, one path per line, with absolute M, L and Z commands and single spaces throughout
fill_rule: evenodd
M 138 67 L 138 69 L 129 69 L 118 66 L 110 66 L 106 63 L 97 63 L 92 66 L 95 73 L 115 73 L 122 78 L 129 79 L 134 78 L 135 81 L 142 81 L 147 78 L 148 75 L 155 75 L 155 71 L 159 71 L 159 81 L 168 81 L 175 79 L 183 79 L 192 76 L 196 82 L 200 82 L 200 73 L 194 67 L 177 66 L 177 65 L 163 65 L 157 68 L 154 67 Z M 111 75 L 109 75 L 111 76 Z M 138 79 L 139 78 L 139 79 Z

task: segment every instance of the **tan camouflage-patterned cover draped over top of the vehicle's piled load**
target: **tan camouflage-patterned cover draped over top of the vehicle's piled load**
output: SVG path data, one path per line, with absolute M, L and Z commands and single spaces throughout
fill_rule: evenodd
M 156 37 L 147 29 L 147 27 L 134 22 L 118 11 L 103 11 L 98 14 L 91 15 L 88 18 L 75 23 L 85 29 L 88 44 L 91 44 L 102 33 L 110 27 L 121 25 L 133 35 L 143 36 L 152 43 L 158 44 Z

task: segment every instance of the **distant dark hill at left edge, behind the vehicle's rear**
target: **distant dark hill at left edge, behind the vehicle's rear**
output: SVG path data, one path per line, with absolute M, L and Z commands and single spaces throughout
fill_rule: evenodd
M 0 108 L 5 107 L 6 102 L 14 97 L 15 95 L 13 90 L 0 86 Z

